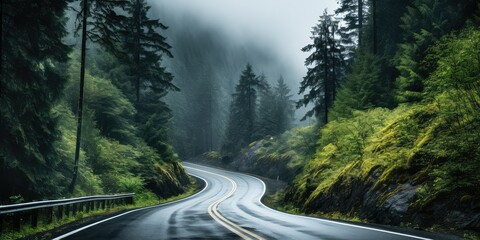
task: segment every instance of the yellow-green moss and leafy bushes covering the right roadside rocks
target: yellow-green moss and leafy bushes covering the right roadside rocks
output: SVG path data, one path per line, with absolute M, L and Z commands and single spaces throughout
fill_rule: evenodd
M 436 206 L 469 214 L 468 206 L 480 199 L 478 39 L 479 31 L 467 28 L 431 48 L 434 69 L 423 102 L 350 110 L 325 125 L 314 157 L 283 194 L 285 204 L 304 212 L 371 214 L 409 185 L 415 195 L 405 221 L 429 212 L 442 227 L 464 227 L 448 208 Z

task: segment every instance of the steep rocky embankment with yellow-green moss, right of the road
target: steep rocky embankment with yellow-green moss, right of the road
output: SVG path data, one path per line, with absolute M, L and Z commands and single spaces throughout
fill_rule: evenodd
M 478 230 L 479 123 L 456 127 L 435 104 L 332 122 L 283 201 L 307 213 Z

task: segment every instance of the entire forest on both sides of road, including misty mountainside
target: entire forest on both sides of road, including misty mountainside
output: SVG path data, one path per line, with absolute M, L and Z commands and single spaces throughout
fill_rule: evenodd
M 303 79 L 146 0 L 0 7 L 1 204 L 178 195 L 200 155 L 285 181 L 285 211 L 480 231 L 478 0 L 339 0 Z

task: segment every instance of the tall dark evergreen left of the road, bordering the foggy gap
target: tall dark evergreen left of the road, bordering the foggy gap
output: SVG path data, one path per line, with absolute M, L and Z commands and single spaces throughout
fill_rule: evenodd
M 160 34 L 167 26 L 158 19 L 150 19 L 149 9 L 144 0 L 130 0 L 125 4 L 127 17 L 121 31 L 123 53 L 125 63 L 131 66 L 129 75 L 135 88 L 140 135 L 160 154 L 166 154 L 170 148 L 166 143 L 167 125 L 172 113 L 163 99 L 169 91 L 179 89 L 172 83 L 173 75 L 161 65 L 164 55 L 173 57 L 171 46 Z

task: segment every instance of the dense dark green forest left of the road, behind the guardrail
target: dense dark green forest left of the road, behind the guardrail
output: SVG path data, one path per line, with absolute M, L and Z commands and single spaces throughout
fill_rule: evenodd
M 167 139 L 164 98 L 178 90 L 162 66 L 171 46 L 149 9 L 144 0 L 1 2 L 1 203 L 184 191 Z

